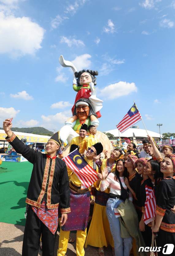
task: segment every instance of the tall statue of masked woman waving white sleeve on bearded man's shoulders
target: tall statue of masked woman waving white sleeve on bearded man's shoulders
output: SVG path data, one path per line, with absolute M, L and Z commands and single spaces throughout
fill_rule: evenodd
M 94 125 L 96 128 L 98 127 L 99 121 L 97 118 L 101 117 L 100 110 L 103 106 L 103 101 L 96 97 L 94 87 L 97 84 L 95 76 L 98 75 L 98 71 L 83 69 L 77 72 L 74 64 L 64 60 L 62 55 L 59 57 L 59 62 L 61 66 L 70 67 L 73 70 L 73 89 L 77 92 L 74 106 L 72 107 L 72 117 L 65 121 L 65 126 L 60 130 L 60 138 L 63 142 L 67 140 L 70 145 L 71 140 L 79 135 L 79 130 L 83 123 L 87 124 L 87 126 Z M 111 142 L 104 133 L 97 131 L 96 137 L 108 152 L 113 149 Z M 67 155 L 69 147 L 63 153 Z

